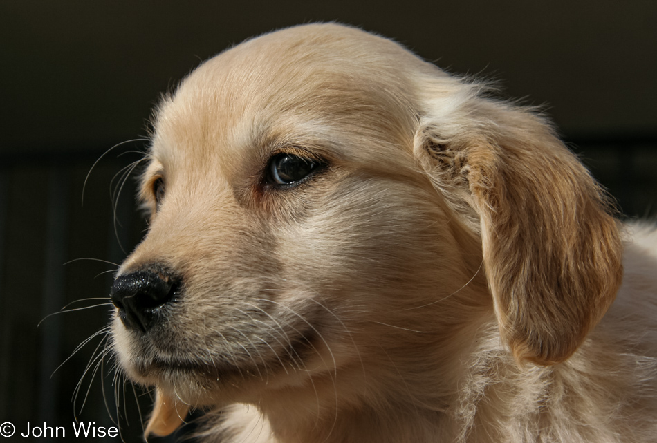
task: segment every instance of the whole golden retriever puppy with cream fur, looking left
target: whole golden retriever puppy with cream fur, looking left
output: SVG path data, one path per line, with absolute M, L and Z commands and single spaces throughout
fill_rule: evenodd
M 112 337 L 147 435 L 206 408 L 207 442 L 657 441 L 657 234 L 542 117 L 393 41 L 208 60 L 140 197 Z

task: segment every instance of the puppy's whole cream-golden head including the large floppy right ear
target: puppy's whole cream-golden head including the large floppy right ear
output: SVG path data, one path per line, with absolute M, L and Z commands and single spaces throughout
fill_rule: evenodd
M 616 226 L 548 126 L 480 90 L 336 25 L 201 65 L 156 115 L 122 368 L 222 405 L 357 402 L 411 367 L 446 392 L 486 322 L 518 361 L 566 359 L 620 283 Z

